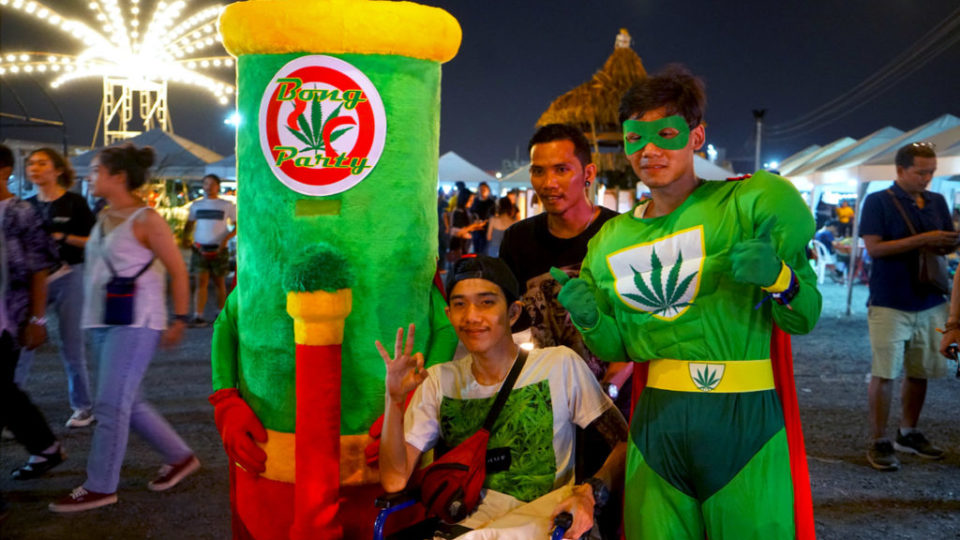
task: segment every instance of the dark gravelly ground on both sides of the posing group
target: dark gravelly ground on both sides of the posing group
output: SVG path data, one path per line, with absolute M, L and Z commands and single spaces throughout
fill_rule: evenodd
M 960 538 L 960 381 L 931 381 L 921 428 L 948 450 L 927 462 L 902 457 L 893 473 L 871 469 L 867 442 L 866 374 L 870 369 L 866 288 L 846 294 L 825 284 L 824 313 L 808 336 L 794 338 L 795 369 L 813 485 L 817 534 L 822 539 Z M 68 430 L 63 369 L 55 349 L 41 349 L 28 384 L 34 401 L 62 437 L 69 459 L 44 478 L 14 482 L 5 471 L 26 458 L 16 443 L 0 444 L 0 490 L 10 514 L 4 539 L 224 539 L 230 536 L 226 458 L 213 425 L 208 361 L 211 330 L 191 329 L 180 347 L 159 353 L 146 378 L 148 399 L 194 448 L 203 468 L 165 493 L 146 489 L 159 458 L 130 438 L 120 502 L 76 515 L 56 515 L 47 503 L 80 485 L 90 429 Z M 952 373 L 951 366 L 951 373 Z M 95 366 L 91 366 L 92 372 Z M 899 399 L 894 401 L 891 426 Z M 892 432 L 892 430 L 891 430 Z

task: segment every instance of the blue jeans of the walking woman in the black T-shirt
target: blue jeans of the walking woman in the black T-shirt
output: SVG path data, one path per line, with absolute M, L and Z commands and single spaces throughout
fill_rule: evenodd
M 50 284 L 47 292 L 47 310 L 57 315 L 60 334 L 60 359 L 67 372 L 67 389 L 73 410 L 90 410 L 90 377 L 87 374 L 87 353 L 80 329 L 80 311 L 83 309 L 83 265 L 73 266 L 69 274 Z M 25 388 L 33 363 L 33 351 L 24 349 L 13 381 Z

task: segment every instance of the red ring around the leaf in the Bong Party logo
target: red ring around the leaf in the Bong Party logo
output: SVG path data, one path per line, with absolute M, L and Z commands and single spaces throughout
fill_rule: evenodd
M 289 75 L 287 75 L 287 77 L 299 78 L 304 84 L 308 82 L 321 82 L 324 84 L 329 84 L 339 89 L 341 92 L 344 90 L 360 90 L 363 92 L 363 95 L 366 96 L 366 92 L 363 90 L 363 87 L 357 84 L 356 81 L 344 73 L 328 67 L 307 66 L 291 72 Z M 278 84 L 276 90 L 273 92 L 273 95 L 270 96 L 270 105 L 267 107 L 266 115 L 267 119 L 269 120 L 266 125 L 267 143 L 270 145 L 270 154 L 273 156 L 274 160 L 276 160 L 278 154 L 274 148 L 280 145 L 280 126 L 285 123 L 280 119 L 280 106 L 283 102 L 277 100 L 279 93 L 280 85 Z M 374 124 L 376 123 L 376 120 L 374 118 L 373 108 L 370 105 L 369 99 L 367 101 L 358 103 L 354 108 L 354 111 L 357 113 L 358 120 L 357 141 L 353 145 L 353 148 L 347 153 L 347 157 L 364 158 L 368 156 L 370 153 L 370 148 L 373 146 L 373 137 L 375 131 Z M 295 179 L 303 184 L 312 186 L 335 184 L 350 176 L 349 168 L 297 167 L 291 161 L 286 161 L 280 165 L 280 170 L 290 178 Z

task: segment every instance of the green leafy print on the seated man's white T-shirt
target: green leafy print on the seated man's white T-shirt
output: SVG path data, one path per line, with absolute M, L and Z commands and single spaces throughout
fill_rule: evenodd
M 453 448 L 483 425 L 496 396 L 484 399 L 444 397 L 440 436 Z M 487 448 L 509 448 L 506 471 L 488 474 L 484 486 L 530 502 L 553 489 L 557 458 L 553 452 L 553 401 L 550 381 L 515 388 L 500 410 Z

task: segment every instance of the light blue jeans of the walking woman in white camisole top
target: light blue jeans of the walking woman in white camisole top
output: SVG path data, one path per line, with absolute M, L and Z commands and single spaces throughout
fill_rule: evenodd
M 99 366 L 97 401 L 93 407 L 97 426 L 83 487 L 97 493 L 115 493 L 130 429 L 163 456 L 164 463 L 179 463 L 193 455 L 193 451 L 156 409 L 144 401 L 140 391 L 140 383 L 160 340 L 160 331 L 116 326 L 93 328 L 89 332 Z

